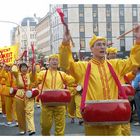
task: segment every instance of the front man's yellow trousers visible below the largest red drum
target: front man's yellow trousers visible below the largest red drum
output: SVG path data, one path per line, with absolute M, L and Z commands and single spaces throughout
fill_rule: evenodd
M 91 126 L 85 124 L 87 136 L 121 136 L 121 125 Z

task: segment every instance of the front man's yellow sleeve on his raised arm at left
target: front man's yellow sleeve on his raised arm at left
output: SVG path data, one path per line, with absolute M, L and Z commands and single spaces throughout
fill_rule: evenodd
M 59 47 L 60 67 L 64 71 L 68 71 L 72 75 L 76 83 L 81 83 L 84 79 L 84 74 L 87 68 L 88 62 L 78 61 L 74 62 L 69 43 L 61 44 Z

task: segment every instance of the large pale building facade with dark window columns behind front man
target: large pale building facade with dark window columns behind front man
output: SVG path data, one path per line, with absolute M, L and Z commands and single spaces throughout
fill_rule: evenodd
M 63 26 L 56 8 L 61 8 L 75 43 L 73 52 L 91 55 L 89 40 L 93 34 L 104 36 L 119 50 L 120 56 L 129 54 L 134 43 L 133 33 L 117 40 L 124 32 L 140 22 L 140 5 L 137 4 L 59 4 L 50 5 L 52 51 L 58 52 L 63 37 Z

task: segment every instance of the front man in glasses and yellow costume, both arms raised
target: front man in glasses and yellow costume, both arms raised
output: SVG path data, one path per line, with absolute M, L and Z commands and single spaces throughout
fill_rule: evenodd
M 60 67 L 69 70 L 71 75 L 84 83 L 88 62 L 74 62 L 70 46 L 70 33 L 64 28 L 63 42 L 59 48 Z M 125 60 L 111 59 L 105 60 L 106 39 L 93 35 L 90 40 L 90 50 L 93 53 L 91 63 L 91 72 L 86 92 L 87 100 L 111 100 L 118 99 L 118 87 L 109 70 L 107 61 L 112 65 L 119 79 L 132 70 L 133 67 L 140 65 L 140 26 L 134 31 L 136 42 L 131 49 L 130 58 Z M 121 125 L 86 125 L 85 135 L 122 135 Z

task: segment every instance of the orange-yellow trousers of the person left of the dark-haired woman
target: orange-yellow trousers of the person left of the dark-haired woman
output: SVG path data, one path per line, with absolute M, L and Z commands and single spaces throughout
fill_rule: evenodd
M 14 97 L 5 96 L 5 109 L 7 122 L 17 121 L 16 104 Z

